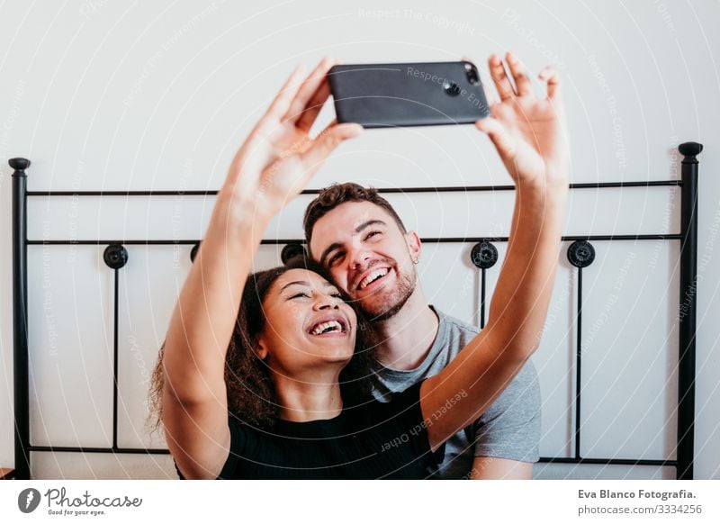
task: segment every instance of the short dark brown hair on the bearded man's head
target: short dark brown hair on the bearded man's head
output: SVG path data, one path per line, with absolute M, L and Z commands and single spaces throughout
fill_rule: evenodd
M 355 184 L 354 182 L 346 182 L 345 184 L 333 184 L 326 187 L 320 194 L 313 200 L 308 208 L 305 210 L 305 217 L 302 219 L 303 227 L 305 228 L 305 239 L 308 241 L 308 249 L 310 249 L 310 241 L 312 239 L 312 228 L 315 227 L 315 222 L 319 221 L 327 213 L 334 210 L 341 203 L 346 202 L 370 202 L 374 203 L 378 207 L 382 207 L 386 212 L 390 213 L 390 216 L 394 219 L 395 223 L 402 233 L 407 233 L 405 224 L 402 223 L 398 213 L 392 209 L 392 205 L 385 200 L 377 192 L 374 187 L 363 187 L 362 185 Z

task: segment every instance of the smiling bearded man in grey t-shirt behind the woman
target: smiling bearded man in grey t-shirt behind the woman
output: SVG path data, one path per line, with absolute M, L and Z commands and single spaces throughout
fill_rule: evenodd
M 379 338 L 373 392 L 379 400 L 437 375 L 479 332 L 428 304 L 416 271 L 419 237 L 374 189 L 329 187 L 308 207 L 305 230 L 311 256 L 357 301 Z M 528 361 L 479 420 L 448 440 L 437 478 L 529 478 L 538 458 L 539 408 Z

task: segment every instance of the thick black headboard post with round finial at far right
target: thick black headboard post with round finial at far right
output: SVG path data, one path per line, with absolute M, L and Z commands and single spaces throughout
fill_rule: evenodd
M 695 336 L 698 290 L 698 158 L 702 144 L 685 142 L 680 199 L 680 358 L 678 364 L 678 480 L 692 480 L 695 459 Z

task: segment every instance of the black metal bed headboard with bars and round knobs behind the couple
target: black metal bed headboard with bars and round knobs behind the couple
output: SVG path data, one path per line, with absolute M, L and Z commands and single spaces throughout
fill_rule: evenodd
M 577 348 L 575 376 L 575 450 L 572 457 L 541 457 L 540 461 L 551 464 L 588 465 L 656 465 L 673 466 L 676 477 L 682 480 L 693 478 L 694 426 L 695 426 L 695 334 L 696 297 L 698 267 L 698 154 L 701 144 L 686 142 L 680 144 L 683 155 L 680 180 L 608 182 L 571 184 L 571 189 L 637 187 L 637 186 L 680 186 L 681 212 L 680 233 L 644 235 L 575 235 L 564 236 L 572 241 L 567 256 L 578 271 L 577 286 Z M 30 453 L 33 451 L 82 452 L 82 453 L 132 453 L 168 454 L 167 449 L 145 449 L 118 446 L 118 275 L 127 262 L 127 251 L 123 245 L 132 244 L 186 244 L 193 245 L 191 257 L 199 245 L 197 239 L 172 240 L 33 240 L 27 238 L 27 197 L 28 196 L 153 196 L 153 195 L 211 195 L 217 191 L 27 191 L 25 170 L 30 167 L 26 158 L 12 158 L 9 164 L 13 174 L 13 313 L 14 313 L 14 455 L 17 479 L 30 479 Z M 514 185 L 480 185 L 455 187 L 407 187 L 379 189 L 380 193 L 442 193 L 475 191 L 512 191 Z M 319 190 L 306 190 L 303 194 L 317 194 Z M 582 269 L 588 267 L 594 257 L 592 240 L 680 240 L 680 353 L 678 376 L 678 432 L 676 460 L 646 460 L 617 458 L 587 458 L 581 456 L 581 336 L 582 336 Z M 485 322 L 485 272 L 497 261 L 497 249 L 492 242 L 505 242 L 508 237 L 482 238 L 424 238 L 424 242 L 475 243 L 472 251 L 473 264 L 482 273 L 481 328 Z M 286 249 L 302 248 L 300 239 L 266 239 L 264 244 L 287 244 Z M 103 260 L 114 270 L 113 308 L 113 384 L 112 384 L 112 447 L 54 447 L 34 446 L 30 442 L 30 389 L 28 366 L 28 307 L 27 307 L 27 247 L 33 244 L 107 245 Z

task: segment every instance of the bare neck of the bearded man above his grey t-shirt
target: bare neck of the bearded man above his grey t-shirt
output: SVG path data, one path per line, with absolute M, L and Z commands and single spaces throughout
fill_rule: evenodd
M 439 326 L 437 314 L 430 309 L 425 294 L 417 285 L 401 311 L 387 321 L 373 323 L 374 332 L 382 340 L 377 348 L 377 359 L 392 369 L 415 369 L 428 357 Z

